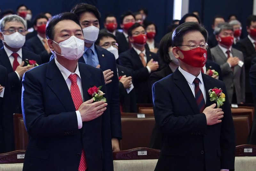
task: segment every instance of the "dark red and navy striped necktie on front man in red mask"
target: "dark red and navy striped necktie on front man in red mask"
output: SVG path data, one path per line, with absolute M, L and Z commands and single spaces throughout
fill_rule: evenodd
M 196 98 L 196 103 L 197 106 L 199 108 L 200 113 L 202 113 L 204 111 L 204 107 L 205 107 L 205 102 L 204 102 L 204 96 L 203 93 L 199 87 L 199 78 L 195 78 L 195 80 L 193 81 L 195 84 L 195 98 Z

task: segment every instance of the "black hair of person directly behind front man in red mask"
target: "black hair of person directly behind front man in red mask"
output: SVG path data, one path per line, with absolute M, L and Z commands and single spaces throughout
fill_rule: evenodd
M 164 35 L 164 37 L 161 39 L 159 43 L 160 58 L 162 58 L 166 64 L 170 63 L 169 53 L 168 53 L 170 46 L 172 46 L 172 32 Z

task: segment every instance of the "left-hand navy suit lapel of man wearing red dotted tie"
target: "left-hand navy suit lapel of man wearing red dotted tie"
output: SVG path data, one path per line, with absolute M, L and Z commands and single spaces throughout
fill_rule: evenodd
M 67 111 L 75 111 L 75 105 L 73 103 L 67 83 L 64 80 L 59 68 L 56 66 L 54 59 L 48 63 L 46 78 L 47 85 L 59 98 L 64 108 Z

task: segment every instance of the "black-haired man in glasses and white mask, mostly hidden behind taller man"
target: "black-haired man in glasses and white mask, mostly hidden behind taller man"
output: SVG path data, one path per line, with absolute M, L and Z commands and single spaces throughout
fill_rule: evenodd
M 101 33 L 95 44 L 113 53 L 116 60 L 118 60 L 116 36 L 110 33 Z M 136 113 L 136 96 L 132 85 L 132 72 L 128 68 L 117 64 L 117 74 L 119 79 L 120 110 L 126 113 Z

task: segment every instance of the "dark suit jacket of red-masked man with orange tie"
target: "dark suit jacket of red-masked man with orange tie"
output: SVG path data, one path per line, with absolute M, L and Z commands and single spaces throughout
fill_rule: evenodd
M 147 63 L 150 59 L 158 61 L 155 53 L 146 50 Z M 140 56 L 131 48 L 119 55 L 119 64 L 130 68 L 133 76 L 134 89 L 137 103 L 151 103 L 151 85 L 147 67 L 144 67 Z

